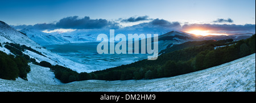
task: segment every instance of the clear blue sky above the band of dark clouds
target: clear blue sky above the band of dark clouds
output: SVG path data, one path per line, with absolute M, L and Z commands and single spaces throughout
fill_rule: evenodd
M 11 25 L 51 23 L 67 16 L 116 20 L 136 15 L 183 24 L 212 23 L 217 18 L 255 24 L 255 0 L 8 0 L 0 4 L 0 20 Z

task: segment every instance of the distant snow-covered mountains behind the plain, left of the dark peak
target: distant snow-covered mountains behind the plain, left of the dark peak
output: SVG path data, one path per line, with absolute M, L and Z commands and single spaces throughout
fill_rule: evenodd
M 81 43 L 81 42 L 93 42 L 96 41 L 97 36 L 101 33 L 104 33 L 105 35 L 109 36 L 110 30 L 109 29 L 79 29 L 72 32 L 64 32 L 64 33 L 44 33 L 42 31 L 38 31 L 35 29 L 22 29 L 19 32 L 24 33 L 24 35 L 27 35 L 31 40 L 37 42 L 40 45 L 54 45 L 54 44 L 65 44 L 65 43 Z M 131 29 L 115 29 L 114 34 L 118 35 L 119 33 L 122 33 L 124 35 L 128 34 L 134 34 L 137 33 L 140 35 L 141 33 L 157 33 L 159 35 L 162 35 L 165 32 L 160 31 L 134 31 Z

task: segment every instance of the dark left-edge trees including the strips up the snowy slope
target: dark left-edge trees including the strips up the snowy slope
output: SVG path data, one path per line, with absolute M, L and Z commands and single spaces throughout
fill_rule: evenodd
M 1 43 L 0 43 L 1 44 Z M 30 58 L 29 55 L 24 54 L 24 50 L 31 50 L 32 52 L 43 55 L 42 53 L 27 47 L 26 45 L 14 44 L 5 42 L 5 48 L 9 49 L 11 54 L 6 54 L 0 51 L 0 78 L 7 80 L 15 80 L 20 77 L 27 80 L 27 73 L 30 72 L 30 66 L 28 62 L 36 63 L 34 58 Z M 2 47 L 2 44 L 0 45 Z

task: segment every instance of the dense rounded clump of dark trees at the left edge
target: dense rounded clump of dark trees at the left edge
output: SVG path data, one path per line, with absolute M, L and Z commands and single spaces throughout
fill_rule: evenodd
M 0 78 L 15 80 L 20 77 L 27 80 L 27 73 L 30 72 L 26 58 L 20 55 L 7 55 L 0 51 Z

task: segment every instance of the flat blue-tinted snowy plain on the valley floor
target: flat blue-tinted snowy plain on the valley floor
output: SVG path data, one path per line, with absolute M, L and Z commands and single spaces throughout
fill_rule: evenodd
M 91 70 L 104 70 L 115 66 L 127 65 L 147 58 L 147 54 L 98 54 L 99 42 L 79 44 L 46 45 L 48 50 L 67 59 L 91 66 Z

